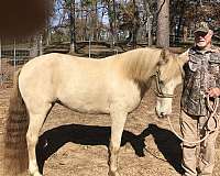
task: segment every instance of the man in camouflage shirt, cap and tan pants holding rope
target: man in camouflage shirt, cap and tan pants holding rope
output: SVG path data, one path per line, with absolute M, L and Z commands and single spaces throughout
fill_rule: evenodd
M 211 176 L 215 166 L 215 143 L 218 135 L 218 114 L 209 118 L 207 96 L 220 96 L 220 52 L 211 44 L 213 32 L 206 22 L 196 24 L 195 46 L 187 51 L 182 95 L 180 130 L 184 176 Z M 213 101 L 212 101 L 213 102 Z M 219 112 L 219 111 L 217 111 Z M 198 141 L 210 132 L 208 139 Z

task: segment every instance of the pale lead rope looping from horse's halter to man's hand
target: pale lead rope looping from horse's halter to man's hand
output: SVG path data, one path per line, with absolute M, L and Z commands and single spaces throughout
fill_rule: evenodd
M 198 140 L 198 141 L 187 141 L 187 140 L 183 139 L 183 138 L 174 130 L 174 127 L 173 127 L 173 124 L 172 124 L 172 122 L 170 122 L 170 119 L 169 119 L 169 117 L 167 117 L 168 124 L 169 124 L 169 127 L 170 127 L 172 132 L 173 132 L 179 140 L 182 140 L 183 142 L 189 143 L 189 144 L 198 144 L 198 143 L 204 142 L 204 141 L 209 136 L 209 134 L 212 133 L 212 132 L 215 132 L 215 131 L 218 129 L 218 127 L 219 127 L 219 121 L 215 118 L 215 116 L 217 114 L 218 106 L 219 106 L 219 98 L 215 98 L 213 106 L 211 106 L 211 105 L 210 105 L 210 101 L 209 101 L 209 96 L 207 96 L 207 105 L 208 105 L 208 110 L 210 111 L 210 116 L 209 116 L 209 118 L 208 118 L 208 120 L 207 120 L 207 125 L 208 125 L 209 119 L 213 118 L 213 119 L 215 119 L 215 122 L 216 122 L 216 128 L 215 128 L 213 130 L 209 130 L 209 128 L 208 128 L 208 130 L 209 130 L 208 133 L 207 133 L 201 140 Z

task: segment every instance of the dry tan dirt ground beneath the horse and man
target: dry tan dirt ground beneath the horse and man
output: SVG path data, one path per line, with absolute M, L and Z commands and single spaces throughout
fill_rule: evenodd
M 119 156 L 121 176 L 179 176 L 182 173 L 180 141 L 169 130 L 167 120 L 155 116 L 153 89 L 128 117 Z M 9 92 L 10 88 L 0 89 L 0 140 Z M 179 92 L 177 88 L 170 116 L 177 131 Z M 109 127 L 108 116 L 80 114 L 56 105 L 42 129 L 36 150 L 44 176 L 107 176 Z M 220 176 L 219 144 L 218 139 L 213 176 Z M 0 167 L 1 164 L 2 160 Z

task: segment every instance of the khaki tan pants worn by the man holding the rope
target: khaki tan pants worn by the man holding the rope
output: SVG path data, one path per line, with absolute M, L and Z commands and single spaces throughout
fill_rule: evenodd
M 184 111 L 180 114 L 180 131 L 187 141 L 200 140 L 206 131 L 202 129 L 206 117 L 188 116 Z M 183 142 L 183 168 L 185 176 L 211 176 L 215 166 L 215 144 L 219 130 L 212 132 L 200 144 Z

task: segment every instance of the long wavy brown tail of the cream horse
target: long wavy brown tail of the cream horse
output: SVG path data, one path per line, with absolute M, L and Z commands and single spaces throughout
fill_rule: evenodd
M 14 75 L 4 131 L 3 175 L 18 176 L 28 168 L 26 131 L 29 118 L 19 90 L 19 74 Z

